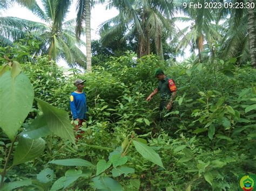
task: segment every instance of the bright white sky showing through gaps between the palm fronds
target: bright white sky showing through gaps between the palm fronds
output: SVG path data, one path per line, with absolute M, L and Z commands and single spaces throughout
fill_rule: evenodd
M 37 1 L 37 3 L 42 8 L 41 1 Z M 91 38 L 92 39 L 96 40 L 96 39 L 100 38 L 99 33 L 98 33 L 98 27 L 100 24 L 102 24 L 106 20 L 111 19 L 118 15 L 117 9 L 112 8 L 111 10 L 106 10 L 105 7 L 106 7 L 106 4 L 104 4 L 104 5 L 97 4 L 91 10 Z M 32 12 L 30 12 L 28 9 L 22 7 L 21 5 L 19 5 L 17 3 L 15 3 L 14 6 L 9 8 L 8 10 L 1 11 L 0 15 L 2 15 L 4 17 L 12 16 L 12 17 L 19 17 L 22 19 L 32 20 L 35 22 L 42 22 L 42 20 L 39 19 L 38 17 L 36 17 L 35 15 L 33 15 Z M 69 11 L 68 15 L 66 16 L 66 20 L 70 20 L 73 18 L 76 18 L 76 3 L 73 3 L 71 5 L 70 11 Z M 179 29 L 184 29 L 184 27 L 187 26 L 187 24 L 184 24 L 184 23 L 176 23 L 176 25 L 179 27 Z M 81 39 L 85 41 L 85 36 L 81 37 Z M 84 52 L 84 54 L 86 54 L 85 47 L 81 47 L 80 49 L 82 50 L 82 52 Z M 177 58 L 177 60 L 182 61 L 182 60 L 184 60 L 184 58 L 187 58 L 190 55 L 189 48 L 187 48 L 185 50 L 185 53 L 186 54 L 184 57 L 179 57 L 179 58 Z M 69 68 L 69 66 L 66 64 L 66 62 L 62 59 L 60 59 L 57 62 L 57 64 L 64 68 Z

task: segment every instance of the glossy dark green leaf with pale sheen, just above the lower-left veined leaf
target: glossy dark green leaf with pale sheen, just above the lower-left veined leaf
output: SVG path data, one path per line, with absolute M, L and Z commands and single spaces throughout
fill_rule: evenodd
M 52 132 L 48 128 L 44 116 L 38 116 L 29 127 L 21 133 L 22 136 L 29 137 L 31 139 L 38 139 L 40 137 L 46 137 Z

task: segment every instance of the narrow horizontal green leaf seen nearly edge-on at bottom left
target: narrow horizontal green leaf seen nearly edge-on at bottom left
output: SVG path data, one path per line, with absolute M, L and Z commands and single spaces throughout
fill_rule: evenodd
M 95 168 L 95 165 L 84 159 L 62 159 L 62 160 L 52 160 L 49 163 L 63 166 L 87 166 Z

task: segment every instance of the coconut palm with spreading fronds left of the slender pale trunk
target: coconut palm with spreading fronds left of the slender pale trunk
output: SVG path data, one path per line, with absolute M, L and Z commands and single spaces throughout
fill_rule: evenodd
M 44 9 L 35 4 L 30 10 L 44 23 L 14 17 L 0 18 L 2 45 L 11 45 L 11 40 L 23 38 L 25 33 L 30 33 L 42 40 L 41 52 L 48 54 L 50 60 L 63 58 L 70 66 L 85 67 L 85 55 L 80 51 L 76 40 L 75 19 L 64 22 L 69 4 L 57 4 L 56 1 L 47 0 L 42 3 Z

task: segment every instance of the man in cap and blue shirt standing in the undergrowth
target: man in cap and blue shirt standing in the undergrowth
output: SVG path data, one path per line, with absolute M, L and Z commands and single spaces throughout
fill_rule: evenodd
M 74 85 L 77 87 L 76 91 L 73 91 L 70 95 L 70 109 L 71 114 L 73 116 L 74 121 L 78 121 L 78 125 L 76 125 L 76 131 L 79 130 L 79 127 L 82 126 L 82 123 L 86 120 L 86 95 L 83 92 L 84 82 L 86 80 L 77 79 L 74 82 Z M 83 133 L 83 131 L 80 131 Z M 80 138 L 80 135 L 77 135 L 77 138 Z

